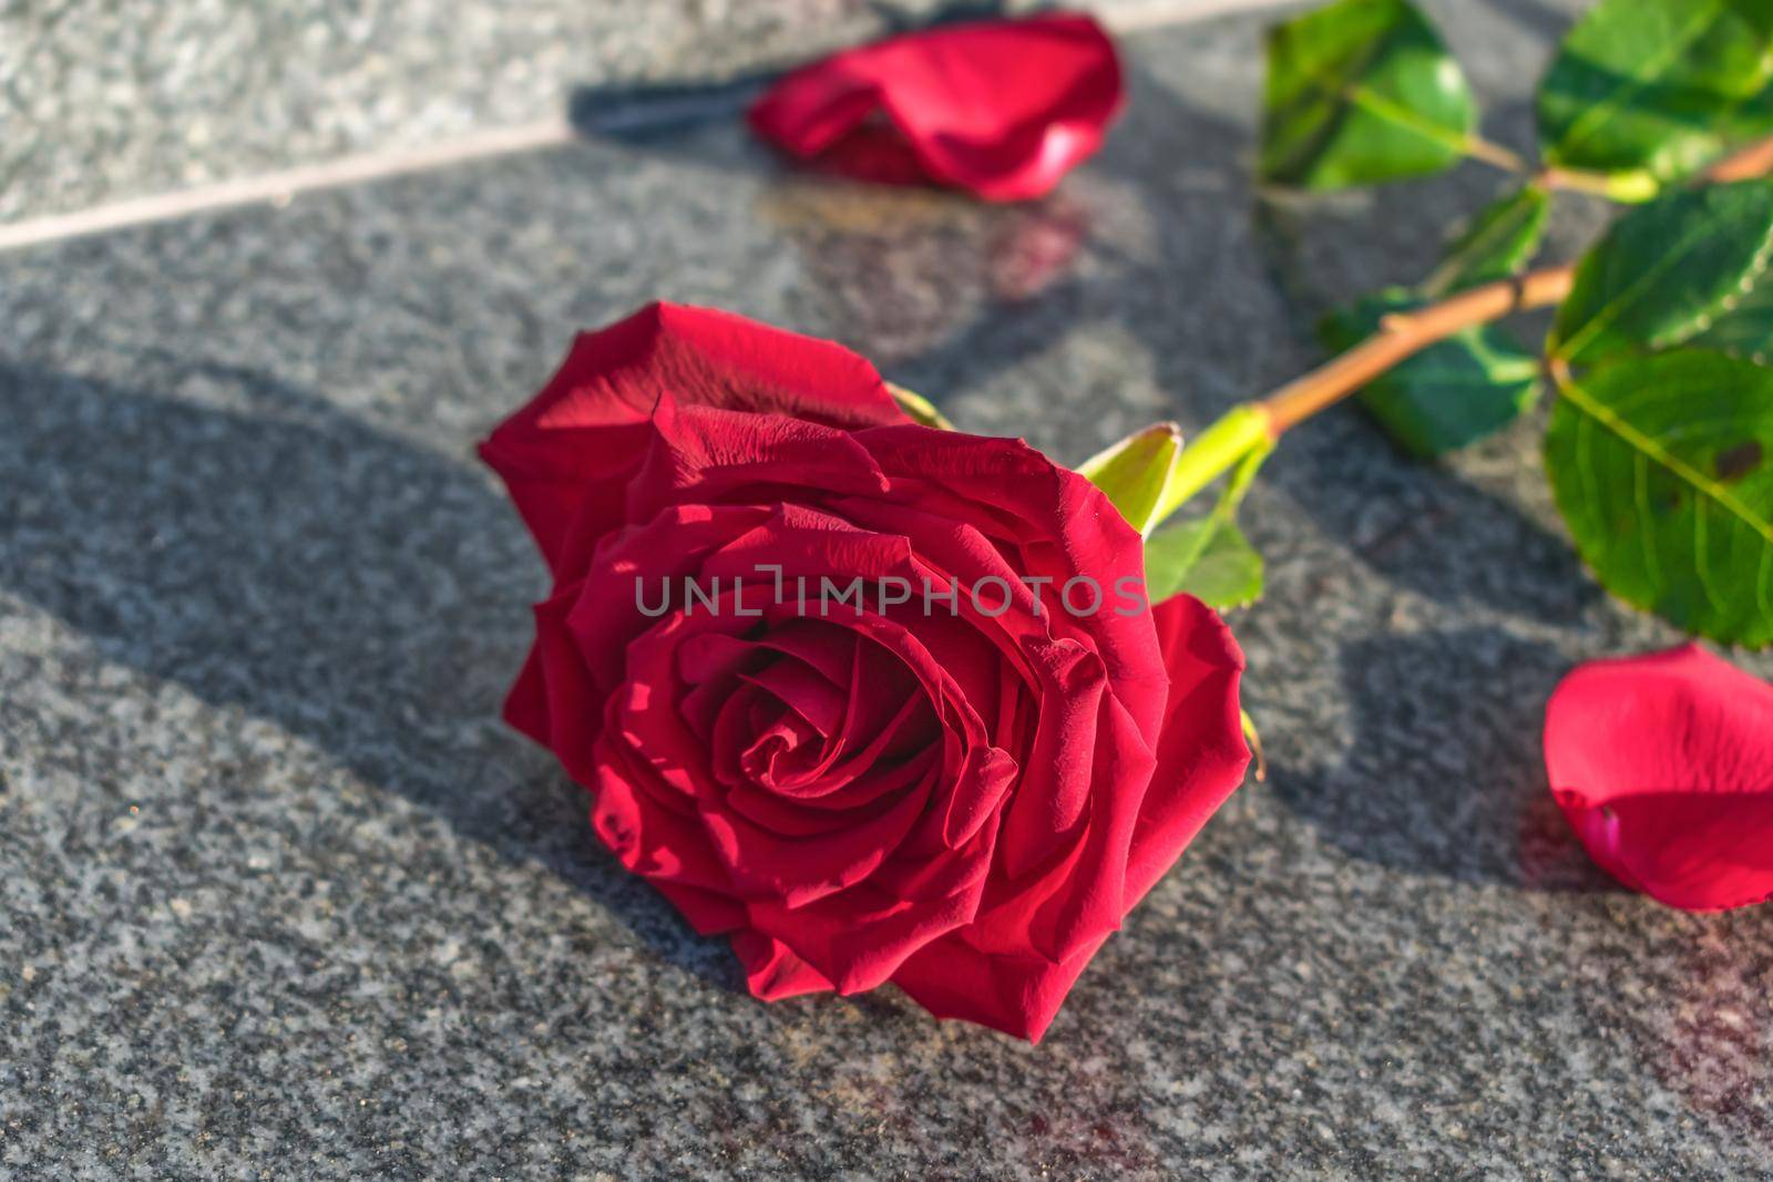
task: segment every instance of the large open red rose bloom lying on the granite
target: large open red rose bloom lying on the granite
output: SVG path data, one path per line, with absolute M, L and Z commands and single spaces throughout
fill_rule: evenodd
M 553 571 L 505 718 L 759 998 L 894 982 L 1039 1038 L 1243 778 L 1238 645 L 1144 608 L 1108 500 L 833 344 L 652 305 L 480 454 Z

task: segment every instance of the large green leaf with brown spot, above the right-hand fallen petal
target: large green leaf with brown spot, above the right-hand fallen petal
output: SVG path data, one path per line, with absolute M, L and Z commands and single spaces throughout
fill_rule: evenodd
M 1773 370 L 1679 349 L 1558 393 L 1546 470 L 1601 583 L 1690 633 L 1773 642 Z

